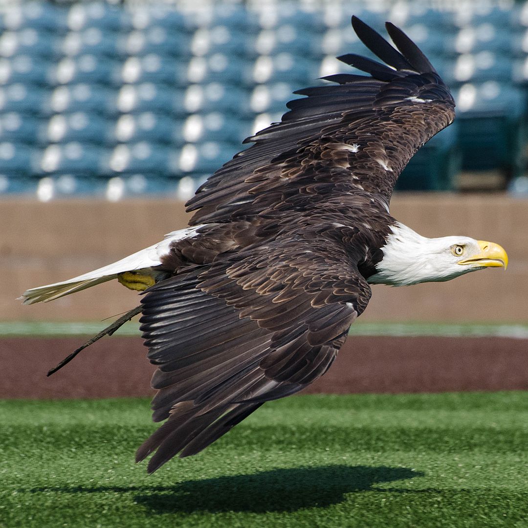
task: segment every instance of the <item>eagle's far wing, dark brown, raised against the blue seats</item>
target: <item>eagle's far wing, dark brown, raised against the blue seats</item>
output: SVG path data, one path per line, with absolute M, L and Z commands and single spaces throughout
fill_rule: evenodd
M 365 45 L 386 64 L 359 55 L 340 59 L 367 76 L 340 74 L 338 85 L 307 88 L 280 123 L 260 131 L 187 202 L 191 225 L 306 210 L 314 180 L 352 183 L 388 205 L 409 159 L 455 117 L 449 89 L 409 37 L 386 25 L 398 50 L 352 19 Z M 357 150 L 357 152 L 355 152 Z M 328 189 L 325 190 L 328 192 Z

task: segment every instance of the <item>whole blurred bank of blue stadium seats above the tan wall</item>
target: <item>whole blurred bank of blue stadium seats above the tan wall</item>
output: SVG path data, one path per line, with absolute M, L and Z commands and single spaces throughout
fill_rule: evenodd
M 398 188 L 453 188 L 460 166 L 523 173 L 528 1 L 431 5 L 7 3 L 0 193 L 189 195 L 280 119 L 294 90 L 346 71 L 336 55 L 371 55 L 352 13 L 380 31 L 401 25 L 457 99 L 458 125 L 420 150 Z

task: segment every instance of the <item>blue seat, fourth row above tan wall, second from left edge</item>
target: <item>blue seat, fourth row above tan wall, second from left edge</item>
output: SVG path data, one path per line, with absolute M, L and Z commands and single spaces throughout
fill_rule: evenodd
M 62 114 L 67 112 L 94 112 L 96 114 L 115 114 L 117 92 L 107 86 L 78 83 L 56 87 L 45 101 L 43 114 Z

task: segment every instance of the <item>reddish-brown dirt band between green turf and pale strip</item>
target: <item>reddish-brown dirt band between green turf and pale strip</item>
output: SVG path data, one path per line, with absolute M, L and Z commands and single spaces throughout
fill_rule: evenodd
M 50 378 L 46 372 L 84 341 L 0 340 L 0 398 L 148 396 L 154 366 L 140 337 L 103 338 Z M 305 392 L 442 392 L 528 389 L 528 340 L 501 337 L 359 337 Z

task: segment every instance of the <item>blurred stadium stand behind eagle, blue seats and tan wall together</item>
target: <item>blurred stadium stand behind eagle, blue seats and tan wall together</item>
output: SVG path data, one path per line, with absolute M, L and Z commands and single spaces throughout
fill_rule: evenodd
M 392 214 L 511 260 L 506 274 L 375 288 L 362 319 L 527 322 L 528 2 L 513 0 L 0 2 L 0 321 L 133 307 L 114 284 L 44 306 L 14 298 L 185 227 L 185 200 L 294 90 L 350 71 L 337 55 L 370 54 L 352 14 L 402 27 L 457 102 Z

